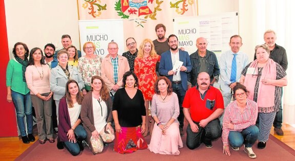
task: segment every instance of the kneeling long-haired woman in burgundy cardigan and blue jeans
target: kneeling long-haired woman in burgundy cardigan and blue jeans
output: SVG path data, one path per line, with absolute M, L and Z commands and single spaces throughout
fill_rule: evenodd
M 80 119 L 82 100 L 78 83 L 69 80 L 66 84 L 66 96 L 61 99 L 58 108 L 57 148 L 63 149 L 65 146 L 74 156 L 84 149 L 82 141 L 87 136 Z

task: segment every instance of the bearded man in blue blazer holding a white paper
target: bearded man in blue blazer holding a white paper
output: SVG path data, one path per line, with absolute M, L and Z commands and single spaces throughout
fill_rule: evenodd
M 178 43 L 178 37 L 176 35 L 172 34 L 168 37 L 170 50 L 161 55 L 159 73 L 160 75 L 166 76 L 172 82 L 173 92 L 178 96 L 180 107 L 180 114 L 178 116 L 180 123 L 179 129 L 180 135 L 184 136 L 182 102 L 187 90 L 187 73 L 191 71 L 192 66 L 188 53 L 179 50 Z M 173 71 L 173 66 L 175 63 L 178 64 L 179 61 L 183 62 L 182 66 L 180 66 L 179 71 Z

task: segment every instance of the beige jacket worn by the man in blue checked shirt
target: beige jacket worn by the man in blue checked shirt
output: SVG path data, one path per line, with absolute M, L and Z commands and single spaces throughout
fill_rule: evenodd
M 127 58 L 117 55 L 118 56 L 118 81 L 117 85 L 122 87 L 123 85 L 123 75 L 125 72 L 130 71 L 129 63 Z M 102 70 L 101 75 L 103 80 L 105 81 L 105 84 L 107 85 L 108 89 L 111 90 L 113 86 L 115 85 L 114 82 L 114 70 L 113 65 L 111 61 L 111 57 L 104 58 L 102 60 Z

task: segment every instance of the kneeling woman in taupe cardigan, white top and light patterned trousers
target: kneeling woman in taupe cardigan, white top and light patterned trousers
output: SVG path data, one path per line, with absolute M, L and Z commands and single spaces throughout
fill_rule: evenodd
M 91 91 L 83 99 L 81 119 L 87 132 L 87 145 L 93 154 L 101 153 L 104 143 L 111 143 L 115 135 L 111 126 L 112 101 L 100 76 L 91 78 Z

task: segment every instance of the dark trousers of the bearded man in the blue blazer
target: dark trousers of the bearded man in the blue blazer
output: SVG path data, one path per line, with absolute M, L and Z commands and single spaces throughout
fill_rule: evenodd
M 183 89 L 181 83 L 180 84 L 172 83 L 172 90 L 178 97 L 179 116 L 177 120 L 179 121 L 179 128 L 183 128 L 184 114 L 183 114 L 182 102 L 184 100 L 186 91 Z

